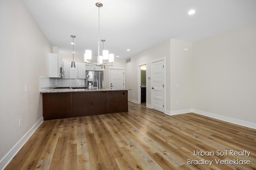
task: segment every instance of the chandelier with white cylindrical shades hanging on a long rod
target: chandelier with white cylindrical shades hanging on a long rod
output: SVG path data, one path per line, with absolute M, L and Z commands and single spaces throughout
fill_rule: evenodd
M 102 50 L 102 55 L 100 55 L 100 8 L 103 6 L 102 3 L 97 2 L 96 6 L 99 9 L 98 12 L 98 63 L 90 63 L 92 59 L 92 50 L 85 50 L 84 54 L 84 62 L 86 65 L 96 65 L 96 66 L 101 66 L 101 69 L 104 70 L 105 66 L 112 66 L 112 63 L 114 63 L 114 54 L 108 54 L 108 50 Z M 104 41 L 103 45 L 104 45 Z M 104 48 L 104 46 L 103 46 Z M 107 64 L 109 62 L 109 64 Z

